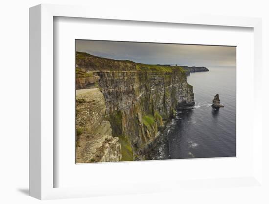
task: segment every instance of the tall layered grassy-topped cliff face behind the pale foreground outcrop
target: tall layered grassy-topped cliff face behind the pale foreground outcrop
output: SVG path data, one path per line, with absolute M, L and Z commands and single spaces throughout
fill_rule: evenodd
M 192 86 L 187 83 L 186 72 L 181 67 L 138 64 L 82 52 L 76 54 L 76 66 L 77 88 L 95 87 L 105 101 L 102 111 L 98 111 L 102 119 L 90 119 L 90 123 L 98 124 L 92 127 L 98 127 L 103 120 L 111 124 L 111 135 L 118 138 L 122 160 L 145 159 L 147 146 L 175 116 L 176 109 L 194 104 Z M 89 82 L 93 78 L 96 80 Z M 87 96 L 81 99 L 84 97 Z M 88 111 L 90 115 L 95 112 Z M 87 128 L 83 134 L 92 135 L 94 131 Z M 78 143 L 85 141 L 78 138 Z

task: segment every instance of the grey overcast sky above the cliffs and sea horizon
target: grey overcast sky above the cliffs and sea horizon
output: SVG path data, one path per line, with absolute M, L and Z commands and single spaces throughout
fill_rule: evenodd
M 76 40 L 76 51 L 145 64 L 235 66 L 236 48 L 160 43 Z

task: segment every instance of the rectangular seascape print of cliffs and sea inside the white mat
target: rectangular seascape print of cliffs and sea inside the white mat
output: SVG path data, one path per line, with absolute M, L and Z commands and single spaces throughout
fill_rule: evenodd
M 76 163 L 236 156 L 235 46 L 75 48 Z

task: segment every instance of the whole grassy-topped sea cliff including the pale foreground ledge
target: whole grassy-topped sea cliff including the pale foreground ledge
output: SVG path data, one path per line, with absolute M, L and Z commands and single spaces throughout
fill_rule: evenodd
M 194 105 L 187 74 L 76 52 L 76 162 L 144 160 L 176 109 Z

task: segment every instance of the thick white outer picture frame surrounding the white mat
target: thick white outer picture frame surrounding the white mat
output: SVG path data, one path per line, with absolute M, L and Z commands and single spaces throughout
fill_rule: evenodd
M 90 11 L 90 12 L 89 12 Z M 53 18 L 73 17 L 91 19 L 110 19 L 137 22 L 162 22 L 173 24 L 189 25 L 211 25 L 211 26 L 237 26 L 250 27 L 254 32 L 254 104 L 261 99 L 262 83 L 262 20 L 248 17 L 227 17 L 227 16 L 194 16 L 187 14 L 160 16 L 139 14 L 135 12 L 100 13 L 84 6 L 67 6 L 40 4 L 30 8 L 30 196 L 38 199 L 59 199 L 78 198 L 96 195 L 116 195 L 128 193 L 147 193 L 166 191 L 168 185 L 177 188 L 189 188 L 195 182 L 186 180 L 173 182 L 163 181 L 156 187 L 156 183 L 133 183 L 130 187 L 104 189 L 102 186 L 90 187 L 55 187 L 54 178 L 54 154 L 55 142 L 53 111 L 54 111 L 54 86 L 53 77 Z M 262 112 L 255 111 L 254 108 L 253 132 L 255 139 L 253 142 L 253 174 L 244 178 L 215 178 L 206 179 L 203 185 L 217 183 L 219 186 L 234 187 L 232 182 L 247 183 L 248 186 L 262 186 Z M 151 163 L 150 165 L 154 165 Z M 201 181 L 199 181 L 201 183 Z M 198 182 L 198 183 L 199 183 Z M 163 185 L 162 185 L 163 184 Z M 197 183 L 196 183 L 197 184 Z M 109 187 L 111 187 L 108 184 Z M 103 190 L 103 191 L 102 191 Z

